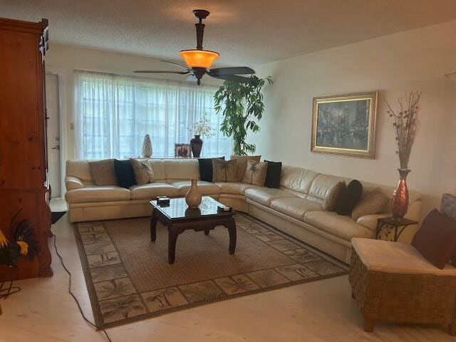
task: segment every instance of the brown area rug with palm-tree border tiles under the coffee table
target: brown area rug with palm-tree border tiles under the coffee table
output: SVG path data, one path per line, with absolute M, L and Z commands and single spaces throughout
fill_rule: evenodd
M 347 273 L 344 264 L 251 217 L 237 214 L 237 247 L 224 227 L 185 231 L 175 264 L 167 262 L 167 229 L 150 219 L 75 225 L 76 242 L 99 328 L 160 316 Z

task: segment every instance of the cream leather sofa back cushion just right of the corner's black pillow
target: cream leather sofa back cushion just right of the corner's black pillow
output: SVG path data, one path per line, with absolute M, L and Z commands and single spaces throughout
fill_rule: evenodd
M 295 195 L 306 197 L 316 176 L 318 173 L 315 171 L 283 165 L 280 186 L 291 190 Z

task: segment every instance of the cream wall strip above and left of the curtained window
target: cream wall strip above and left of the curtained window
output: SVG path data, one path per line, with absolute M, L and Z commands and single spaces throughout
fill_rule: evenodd
M 179 61 L 180 64 L 184 64 Z M 162 63 L 155 58 L 128 55 L 125 53 L 113 53 L 90 48 L 76 46 L 64 46 L 53 44 L 46 54 L 46 69 L 58 71 L 64 79 L 63 87 L 66 99 L 66 159 L 74 159 L 74 130 L 71 124 L 74 122 L 74 71 L 98 71 L 103 73 L 117 73 L 120 75 L 138 76 L 135 70 L 179 70 L 177 67 Z M 166 78 L 175 81 L 184 81 L 185 75 L 147 75 L 141 77 Z M 220 84 L 220 81 L 205 76 L 202 84 Z

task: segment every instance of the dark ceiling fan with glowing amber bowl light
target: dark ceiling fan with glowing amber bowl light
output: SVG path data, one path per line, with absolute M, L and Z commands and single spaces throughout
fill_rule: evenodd
M 187 66 L 181 66 L 178 63 L 170 61 L 162 61 L 170 63 L 173 66 L 178 66 L 184 70 L 182 71 L 165 71 L 165 70 L 137 70 L 135 73 L 178 73 L 182 75 L 189 75 L 191 78 L 196 78 L 198 86 L 201 84 L 201 78 L 207 74 L 213 78 L 219 78 L 227 81 L 234 81 L 244 83 L 249 81 L 249 78 L 239 75 L 253 74 L 255 71 L 247 66 L 235 66 L 231 68 L 214 68 L 209 69 L 214 63 L 215 59 L 220 55 L 217 52 L 204 50 L 202 48 L 202 38 L 204 35 L 203 19 L 209 16 L 209 11 L 205 9 L 195 9 L 193 11 L 199 22 L 195 24 L 197 28 L 197 48 L 192 50 L 182 50 L 179 52 L 180 56 L 184 58 Z

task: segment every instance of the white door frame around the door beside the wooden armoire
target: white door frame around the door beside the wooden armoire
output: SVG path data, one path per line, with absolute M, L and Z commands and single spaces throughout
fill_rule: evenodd
M 47 68 L 46 74 L 57 76 L 58 86 L 58 134 L 60 144 L 60 194 L 55 199 L 63 198 L 65 193 L 65 175 L 66 175 L 66 88 L 65 72 L 57 68 Z

